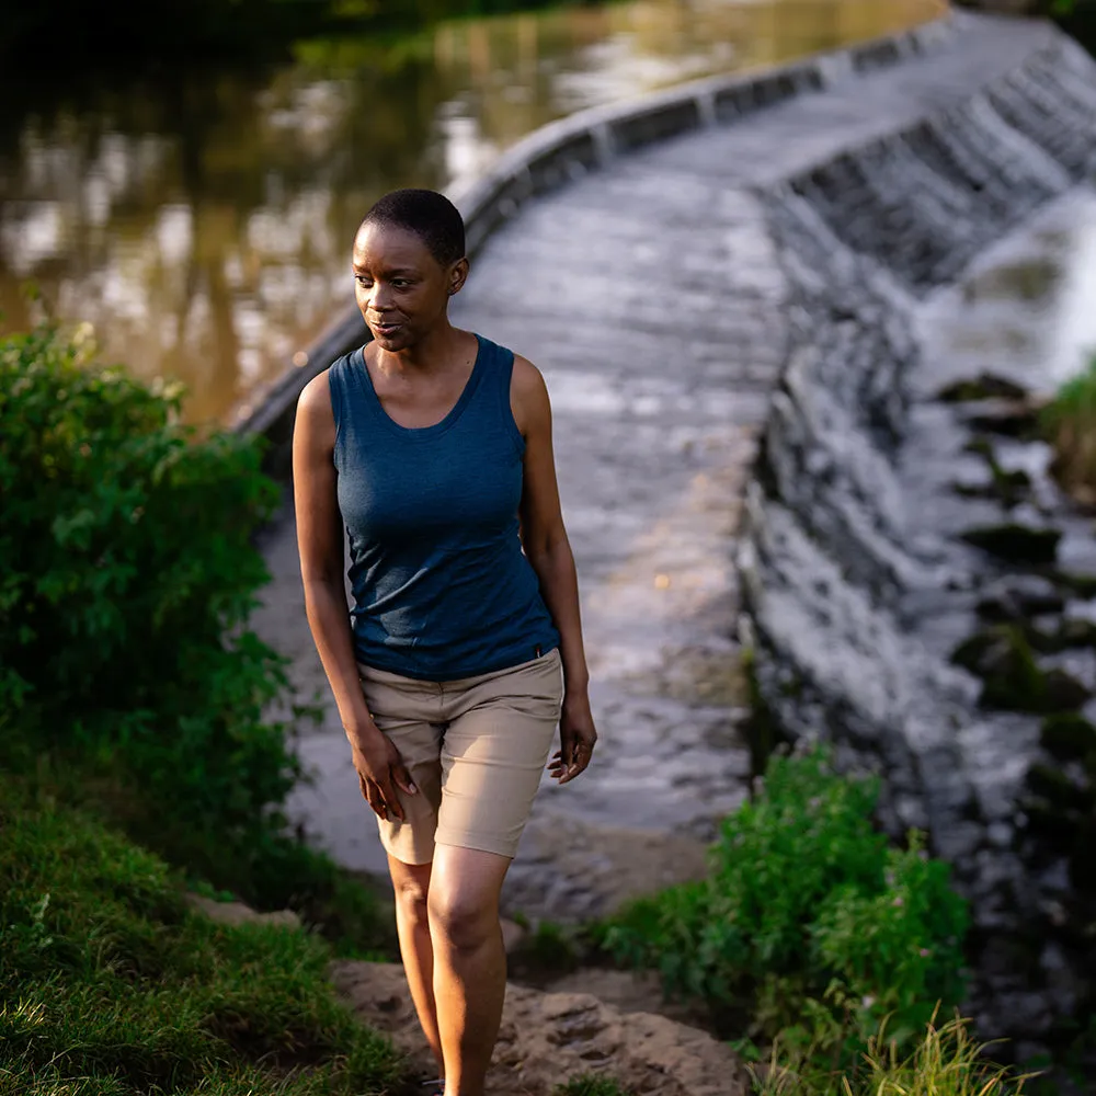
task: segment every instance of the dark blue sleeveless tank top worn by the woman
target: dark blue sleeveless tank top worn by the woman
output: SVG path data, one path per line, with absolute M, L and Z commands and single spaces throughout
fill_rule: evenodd
M 433 426 L 388 415 L 362 350 L 329 372 L 355 655 L 406 677 L 471 677 L 559 643 L 518 535 L 514 355 L 476 338 L 471 376 Z

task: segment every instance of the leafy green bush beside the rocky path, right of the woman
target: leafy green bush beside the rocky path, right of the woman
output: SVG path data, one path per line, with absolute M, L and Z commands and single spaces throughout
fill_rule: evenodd
M 877 795 L 820 751 L 773 757 L 710 876 L 633 903 L 605 946 L 671 993 L 745 1009 L 767 1038 L 847 1060 L 889 1017 L 906 1043 L 961 996 L 967 915 L 916 835 L 891 848 L 872 829 Z

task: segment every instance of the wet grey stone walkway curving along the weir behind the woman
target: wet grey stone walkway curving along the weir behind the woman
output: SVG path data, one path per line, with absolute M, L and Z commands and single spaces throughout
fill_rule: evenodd
M 897 68 L 854 76 L 835 64 L 823 93 L 621 159 L 532 204 L 478 256 L 454 320 L 547 379 L 601 734 L 586 775 L 541 786 L 507 881 L 511 910 L 573 920 L 695 874 L 717 820 L 745 794 L 734 537 L 795 307 L 765 193 L 968 99 L 1042 34 L 964 18 L 950 44 Z M 292 516 L 265 551 L 274 583 L 256 627 L 292 657 L 306 695 L 328 703 Z M 345 864 L 380 870 L 330 704 L 300 752 L 317 781 L 296 795 L 295 814 Z

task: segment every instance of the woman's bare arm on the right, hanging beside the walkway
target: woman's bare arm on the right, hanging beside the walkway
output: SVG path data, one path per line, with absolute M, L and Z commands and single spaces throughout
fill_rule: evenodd
M 597 732 L 590 711 L 590 672 L 582 642 L 579 580 L 556 482 L 551 404 L 544 377 L 524 357 L 514 359 L 511 406 L 525 437 L 522 544 L 560 635 L 566 693 L 560 717 L 562 749 L 553 760 L 552 775 L 560 784 L 567 784 L 590 764 Z

